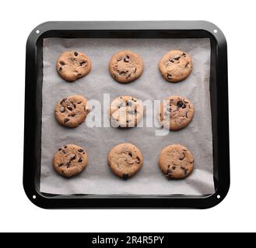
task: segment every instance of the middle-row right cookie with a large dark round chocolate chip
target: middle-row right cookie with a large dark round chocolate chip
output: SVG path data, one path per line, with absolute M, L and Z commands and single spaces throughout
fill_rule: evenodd
M 158 119 L 165 129 L 183 129 L 193 119 L 194 106 L 187 98 L 170 96 L 160 104 Z

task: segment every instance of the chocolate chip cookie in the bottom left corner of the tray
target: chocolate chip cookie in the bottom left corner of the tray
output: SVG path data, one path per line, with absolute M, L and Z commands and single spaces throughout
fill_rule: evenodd
M 80 146 L 68 144 L 54 154 L 54 170 L 63 177 L 72 177 L 79 174 L 87 165 L 87 154 Z

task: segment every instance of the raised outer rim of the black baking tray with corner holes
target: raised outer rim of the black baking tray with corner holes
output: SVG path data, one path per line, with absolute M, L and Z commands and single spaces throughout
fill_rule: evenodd
M 38 31 L 39 32 L 38 32 Z M 179 37 L 189 31 L 206 33 L 216 43 L 216 142 L 218 155 L 218 187 L 212 195 L 61 195 L 49 196 L 37 190 L 35 174 L 37 168 L 37 129 L 41 124 L 37 117 L 40 115 L 37 108 L 31 109 L 31 104 L 37 103 L 37 86 L 40 76 L 37 71 L 37 46 L 39 41 L 49 36 L 49 33 L 78 33 L 89 32 L 163 32 Z M 216 32 L 217 31 L 217 32 Z M 195 34 L 194 34 L 195 35 Z M 50 34 L 51 36 L 51 34 Z M 70 36 L 66 36 L 70 37 Z M 79 36 L 81 37 L 81 36 Z M 129 36 L 128 36 L 129 37 Z M 187 37 L 187 36 L 184 36 Z M 195 37 L 195 36 L 191 36 Z M 134 37 L 131 37 L 134 38 Z M 141 38 L 141 37 L 139 37 Z M 148 37 L 150 38 L 150 37 Z M 162 38 L 154 36 L 154 38 Z M 32 63 L 33 62 L 33 63 Z M 212 64 L 212 61 L 211 61 Z M 212 66 L 211 66 L 212 67 Z M 211 70 L 212 71 L 212 70 Z M 29 73 L 30 72 L 30 73 Z M 211 72 L 212 77 L 212 72 Z M 217 83 L 218 82 L 218 83 Z M 33 95 L 32 93 L 36 93 Z M 41 93 L 41 92 L 40 92 Z M 218 93 L 218 94 L 217 94 Z M 32 95 L 31 95 L 32 94 Z M 220 95 L 220 96 L 219 96 Z M 25 125 L 24 125 L 24 160 L 23 160 L 23 188 L 33 204 L 41 208 L 211 208 L 223 201 L 230 188 L 230 154 L 229 154 L 229 120 L 228 120 L 228 88 L 227 88 L 227 49 L 226 38 L 222 31 L 211 22 L 205 21 L 132 21 L 132 22 L 44 22 L 33 29 L 26 43 L 26 92 L 25 92 Z M 224 97 L 222 97 L 224 96 Z M 212 98 L 212 92 L 211 92 Z M 212 103 L 212 99 L 211 99 Z M 217 105 L 218 103 L 218 105 Z M 219 105 L 223 108 L 219 108 Z M 31 112 L 31 110 L 33 110 Z M 211 107 L 212 111 L 212 107 Z M 33 115 L 34 113 L 34 115 Z M 41 121 L 41 120 L 40 120 Z M 219 126 L 221 124 L 221 129 Z M 212 123 L 213 124 L 213 123 Z M 32 128 L 32 129 L 31 129 Z M 212 127 L 213 128 L 213 127 Z M 213 132 L 213 130 L 212 130 Z M 37 133 L 37 136 L 36 136 Z M 213 135 L 212 135 L 213 139 Z M 212 140 L 213 142 L 213 140 Z M 213 144 L 214 146 L 214 144 Z M 224 148 L 224 150 L 221 150 Z M 31 156 L 31 151 L 32 155 Z M 216 155 L 213 155 L 213 157 Z M 219 160 L 222 159 L 222 160 Z M 221 163 L 220 163 L 221 162 Z

